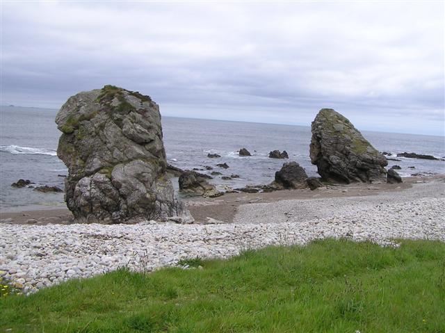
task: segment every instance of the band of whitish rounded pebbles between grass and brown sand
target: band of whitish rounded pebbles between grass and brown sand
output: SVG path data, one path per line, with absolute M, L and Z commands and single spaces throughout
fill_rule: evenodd
M 398 238 L 445 241 L 445 178 L 399 192 L 242 204 L 232 222 L 176 225 L 2 223 L 0 275 L 24 293 L 120 267 L 149 272 L 186 258 L 228 258 L 267 245 L 350 238 L 396 245 Z M 323 191 L 319 189 L 317 191 Z

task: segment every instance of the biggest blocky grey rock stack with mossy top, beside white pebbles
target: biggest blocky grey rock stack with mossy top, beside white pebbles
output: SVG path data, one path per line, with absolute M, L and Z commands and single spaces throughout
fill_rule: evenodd
M 184 213 L 165 177 L 159 106 L 115 86 L 70 97 L 56 116 L 65 201 L 78 222 L 166 220 Z

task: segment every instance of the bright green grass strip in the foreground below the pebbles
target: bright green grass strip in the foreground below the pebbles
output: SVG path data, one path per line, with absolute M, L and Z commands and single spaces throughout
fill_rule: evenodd
M 445 332 L 445 243 L 246 250 L 0 299 L 0 332 Z M 192 265 L 191 265 L 192 266 Z

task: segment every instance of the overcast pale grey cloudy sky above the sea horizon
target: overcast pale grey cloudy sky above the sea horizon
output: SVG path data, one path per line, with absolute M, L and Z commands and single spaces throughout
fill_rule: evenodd
M 106 84 L 162 115 L 445 135 L 444 1 L 1 1 L 0 104 Z

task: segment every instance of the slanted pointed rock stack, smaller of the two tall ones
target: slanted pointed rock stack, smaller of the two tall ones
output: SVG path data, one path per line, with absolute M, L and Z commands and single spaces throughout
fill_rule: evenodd
M 327 181 L 385 182 L 385 156 L 380 154 L 346 117 L 323 108 L 312 122 L 312 164 Z

